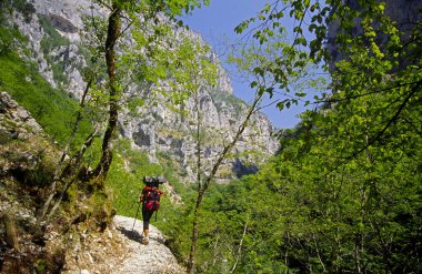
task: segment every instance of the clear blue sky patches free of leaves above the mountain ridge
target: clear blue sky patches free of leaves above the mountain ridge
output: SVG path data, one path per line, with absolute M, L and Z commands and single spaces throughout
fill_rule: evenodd
M 183 21 L 190 29 L 199 32 L 209 42 L 218 54 L 223 52 L 223 43 L 230 43 L 240 37 L 234 32 L 235 26 L 242 20 L 254 17 L 264 6 L 264 0 L 211 0 L 210 6 L 194 10 Z M 228 67 L 227 67 L 228 68 Z M 237 77 L 231 77 L 234 94 L 245 101 L 251 99 L 252 90 L 249 83 Z M 302 112 L 302 106 L 291 106 L 289 110 L 279 111 L 274 105 L 262 110 L 271 122 L 279 129 L 293 128 L 299 119 L 297 114 Z

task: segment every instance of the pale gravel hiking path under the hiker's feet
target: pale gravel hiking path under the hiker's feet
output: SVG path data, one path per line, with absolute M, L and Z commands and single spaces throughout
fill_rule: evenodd
M 185 273 L 178 264 L 170 250 L 163 244 L 164 237 L 160 231 L 150 225 L 150 244 L 141 244 L 142 222 L 137 220 L 133 227 L 133 219 L 119 216 L 114 223 L 122 233 L 129 254 L 125 260 L 115 267 L 117 274 L 161 274 Z

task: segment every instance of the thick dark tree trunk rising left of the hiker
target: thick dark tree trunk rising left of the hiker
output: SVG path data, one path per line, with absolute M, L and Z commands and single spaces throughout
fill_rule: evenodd
M 103 187 L 103 181 L 110 170 L 112 154 L 111 154 L 111 140 L 115 132 L 119 116 L 119 100 L 120 91 L 117 81 L 117 68 L 115 68 L 115 43 L 119 39 L 121 31 L 121 8 L 113 2 L 112 11 L 109 17 L 109 24 L 105 40 L 105 62 L 107 73 L 109 77 L 109 121 L 104 138 L 101 146 L 101 160 L 97 168 L 92 172 L 90 177 L 102 176 L 98 187 Z

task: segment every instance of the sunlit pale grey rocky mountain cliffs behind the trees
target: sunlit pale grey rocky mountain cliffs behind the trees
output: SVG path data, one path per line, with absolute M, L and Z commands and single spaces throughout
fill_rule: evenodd
M 82 70 L 88 63 L 82 54 L 81 14 L 104 13 L 104 11 L 93 7 L 88 0 L 78 1 L 78 4 L 70 0 L 53 2 L 32 0 L 30 2 L 37 10 L 30 23 L 19 14 L 14 17 L 14 21 L 21 32 L 28 37 L 32 49 L 29 58 L 39 64 L 41 74 L 53 87 L 62 88 L 72 97 L 80 98 L 86 88 Z M 197 33 L 185 30 L 177 30 L 174 35 L 189 35 L 190 39 L 204 43 Z M 46 44 L 50 44 L 49 48 L 46 48 Z M 217 64 L 220 75 L 215 87 L 201 91 L 200 99 L 203 112 L 202 128 L 207 130 L 202 156 L 204 166 L 210 166 L 222 145 L 230 142 L 235 134 L 244 116 L 247 104 L 233 97 L 230 79 L 217 55 L 211 53 L 205 58 Z M 137 84 L 130 84 L 128 91 L 128 93 L 137 91 L 144 94 L 149 92 Z M 180 174 L 183 174 L 187 181 L 192 181 L 195 162 L 193 123 L 189 115 L 171 111 L 164 105 L 165 99 L 162 98 L 161 102 L 147 102 L 135 111 L 123 106 L 119 120 L 121 136 L 130 139 L 133 148 L 147 151 L 153 162 L 172 161 L 174 166 L 180 169 Z M 191 113 L 193 106 L 193 100 L 188 100 L 184 105 L 180 105 L 180 109 Z M 257 165 L 257 162 L 273 154 L 278 149 L 278 142 L 272 136 L 274 130 L 265 115 L 255 113 L 243 138 L 234 148 L 234 156 L 224 162 L 218 174 L 220 180 L 242 175 L 247 170 L 239 169 L 239 163 L 248 166 Z M 254 151 L 254 156 L 249 151 Z M 242 156 L 237 156 L 237 154 L 242 154 Z M 249 169 L 248 172 L 254 170 Z

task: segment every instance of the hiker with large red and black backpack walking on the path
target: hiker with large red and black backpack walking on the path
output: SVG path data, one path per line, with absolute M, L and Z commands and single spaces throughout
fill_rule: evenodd
M 164 177 L 149 177 L 144 176 L 143 182 L 147 184 L 142 194 L 139 196 L 139 202 L 142 203 L 142 220 L 143 220 L 143 237 L 142 244 L 149 244 L 149 226 L 150 219 L 154 212 L 160 207 L 160 196 L 164 194 L 159 190 L 159 184 L 165 183 Z M 155 213 L 157 214 L 157 213 Z M 157 216 L 157 215 L 155 215 Z

